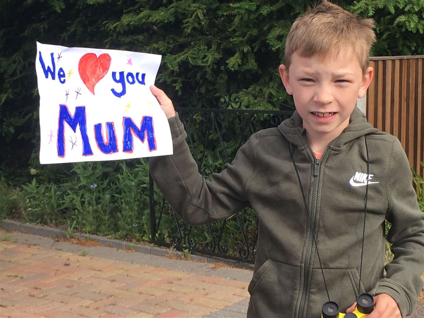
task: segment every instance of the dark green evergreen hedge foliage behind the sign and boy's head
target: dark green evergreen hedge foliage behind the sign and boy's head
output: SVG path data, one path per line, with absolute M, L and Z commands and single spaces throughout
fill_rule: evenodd
M 373 55 L 424 54 L 424 0 L 333 2 L 376 20 Z M 1 1 L 3 175 L 20 184 L 32 179 L 30 166 L 40 169 L 36 41 L 161 54 L 158 86 L 179 106 L 216 107 L 223 91 L 236 89 L 292 103 L 276 69 L 291 23 L 310 5 L 307 0 Z M 243 103 L 273 108 L 258 100 Z M 51 181 L 63 166 L 42 169 Z

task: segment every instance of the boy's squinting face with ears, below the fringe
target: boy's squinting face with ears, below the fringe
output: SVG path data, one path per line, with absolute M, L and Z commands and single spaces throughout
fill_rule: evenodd
M 324 61 L 294 53 L 290 72 L 284 65 L 279 70 L 308 138 L 326 140 L 336 138 L 349 125 L 356 100 L 365 95 L 373 75 L 372 67 L 362 74 L 358 59 L 349 50 L 340 50 Z

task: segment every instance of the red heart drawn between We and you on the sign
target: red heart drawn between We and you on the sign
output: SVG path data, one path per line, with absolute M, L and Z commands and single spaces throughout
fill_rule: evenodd
M 97 57 L 94 53 L 87 53 L 78 62 L 78 73 L 93 95 L 94 87 L 109 71 L 111 61 L 109 54 L 104 53 Z

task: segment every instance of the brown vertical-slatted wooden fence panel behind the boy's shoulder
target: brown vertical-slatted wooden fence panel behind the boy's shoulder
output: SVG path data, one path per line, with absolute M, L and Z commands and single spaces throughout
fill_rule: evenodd
M 370 66 L 368 122 L 398 137 L 410 166 L 424 176 L 424 56 L 372 57 Z

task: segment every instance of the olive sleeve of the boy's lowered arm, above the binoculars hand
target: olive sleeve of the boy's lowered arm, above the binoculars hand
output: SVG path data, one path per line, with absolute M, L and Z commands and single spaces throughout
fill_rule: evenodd
M 424 271 L 424 213 L 418 207 L 409 163 L 397 138 L 393 142 L 387 178 L 386 218 L 392 223 L 387 240 L 392 243 L 394 258 L 385 266 L 386 277 L 371 293 L 390 295 L 402 316 L 406 316 L 412 313 L 423 287 L 420 276 Z

